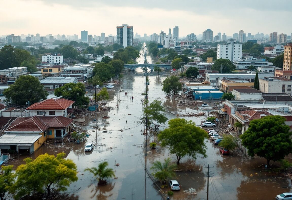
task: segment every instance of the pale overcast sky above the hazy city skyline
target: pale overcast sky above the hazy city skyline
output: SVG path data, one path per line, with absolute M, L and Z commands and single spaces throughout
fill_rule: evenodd
M 128 24 L 141 36 L 179 26 L 179 37 L 244 30 L 292 32 L 292 0 L 0 0 L 0 35 L 116 35 Z

